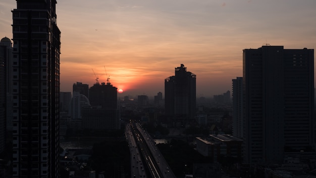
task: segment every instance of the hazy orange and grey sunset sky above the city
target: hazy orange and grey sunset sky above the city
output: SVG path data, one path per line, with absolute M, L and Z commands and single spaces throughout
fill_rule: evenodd
M 0 2 L 0 38 L 12 38 L 13 9 Z M 242 76 L 243 49 L 314 49 L 315 9 L 315 0 L 57 0 L 61 92 L 98 77 L 119 97 L 164 96 L 184 64 L 197 97 L 221 95 Z

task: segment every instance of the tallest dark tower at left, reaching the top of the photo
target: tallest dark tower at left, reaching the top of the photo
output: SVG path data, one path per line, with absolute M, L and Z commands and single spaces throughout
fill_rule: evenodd
M 60 37 L 56 0 L 13 13 L 13 177 L 60 176 Z

